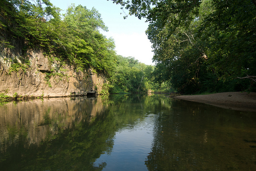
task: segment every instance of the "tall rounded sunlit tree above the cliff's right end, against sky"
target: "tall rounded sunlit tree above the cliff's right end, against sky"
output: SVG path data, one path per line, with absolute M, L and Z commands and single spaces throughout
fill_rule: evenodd
M 99 29 L 107 27 L 95 8 L 88 10 L 85 6 L 70 6 L 64 15 L 65 31 L 62 39 L 62 53 L 78 68 L 91 66 L 106 73 L 112 70 L 115 58 L 114 40 L 106 39 Z

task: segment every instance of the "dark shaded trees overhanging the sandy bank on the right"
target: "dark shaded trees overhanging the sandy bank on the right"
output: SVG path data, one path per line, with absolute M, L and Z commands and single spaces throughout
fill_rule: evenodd
M 145 17 L 155 82 L 182 93 L 255 91 L 256 6 L 251 0 L 112 0 Z

